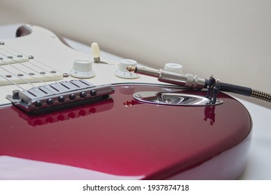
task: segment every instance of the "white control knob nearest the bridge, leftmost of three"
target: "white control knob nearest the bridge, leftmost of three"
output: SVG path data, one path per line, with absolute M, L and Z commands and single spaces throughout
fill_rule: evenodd
M 95 72 L 92 70 L 92 62 L 90 60 L 77 59 L 74 60 L 72 70 L 69 75 L 75 78 L 93 78 Z

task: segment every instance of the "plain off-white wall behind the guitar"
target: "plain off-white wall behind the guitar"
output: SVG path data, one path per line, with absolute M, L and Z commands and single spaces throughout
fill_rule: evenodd
M 151 67 L 177 62 L 271 93 L 269 0 L 0 0 L 0 24 L 21 22 Z

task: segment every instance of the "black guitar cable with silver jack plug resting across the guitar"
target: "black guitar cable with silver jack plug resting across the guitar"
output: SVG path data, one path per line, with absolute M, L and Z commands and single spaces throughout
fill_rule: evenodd
M 174 85 L 181 85 L 194 89 L 205 89 L 208 86 L 209 80 L 199 78 L 198 76 L 189 73 L 175 73 L 166 69 L 146 69 L 144 67 L 127 67 L 130 72 L 152 76 L 158 78 L 158 81 L 167 82 Z M 227 91 L 234 94 L 240 94 L 243 96 L 249 96 L 252 98 L 258 98 L 271 103 L 271 94 L 267 94 L 263 91 L 251 89 L 249 87 L 243 87 L 238 85 L 231 85 L 227 83 L 220 83 L 220 91 Z

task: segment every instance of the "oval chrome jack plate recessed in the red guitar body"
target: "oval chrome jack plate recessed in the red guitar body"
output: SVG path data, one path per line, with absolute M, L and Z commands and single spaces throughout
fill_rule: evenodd
M 208 98 L 192 94 L 176 92 L 157 92 L 157 91 L 140 91 L 133 94 L 133 98 L 142 103 L 151 103 L 156 105 L 188 105 L 188 106 L 206 106 L 220 105 L 222 100 L 216 100 L 211 104 Z

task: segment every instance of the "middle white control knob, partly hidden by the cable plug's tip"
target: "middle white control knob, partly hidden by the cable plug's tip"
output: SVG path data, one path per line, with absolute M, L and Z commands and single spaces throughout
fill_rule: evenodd
M 119 67 L 115 71 L 115 76 L 124 79 L 135 79 L 139 78 L 138 73 L 129 72 L 126 67 L 136 67 L 137 62 L 135 60 L 120 60 Z

